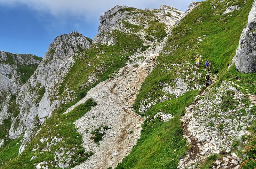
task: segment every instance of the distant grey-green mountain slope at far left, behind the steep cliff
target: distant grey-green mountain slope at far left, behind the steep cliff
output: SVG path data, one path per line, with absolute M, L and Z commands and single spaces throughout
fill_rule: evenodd
M 0 147 L 10 129 L 10 119 L 17 116 L 16 97 L 21 86 L 34 73 L 42 58 L 30 54 L 0 51 Z

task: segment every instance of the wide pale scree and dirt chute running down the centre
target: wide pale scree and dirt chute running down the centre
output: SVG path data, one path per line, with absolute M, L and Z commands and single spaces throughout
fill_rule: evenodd
M 145 67 L 147 65 L 122 68 L 116 77 L 96 85 L 85 98 L 65 112 L 70 112 L 89 98 L 98 103 L 75 122 L 83 135 L 85 151 L 94 153 L 85 163 L 75 168 L 114 168 L 137 143 L 144 119 L 134 112 L 132 105 L 146 78 Z M 90 137 L 91 132 L 101 125 L 107 125 L 111 129 L 105 131 L 106 135 L 97 146 Z

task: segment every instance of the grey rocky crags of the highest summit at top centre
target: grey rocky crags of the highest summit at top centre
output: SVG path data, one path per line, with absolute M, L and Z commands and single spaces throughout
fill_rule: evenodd
M 114 38 L 109 35 L 109 32 L 118 30 L 133 33 L 133 30 L 127 28 L 127 24 L 147 28 L 148 20 L 158 20 L 166 26 L 173 26 L 182 14 L 182 11 L 166 5 L 161 5 L 159 9 L 146 9 L 146 11 L 128 6 L 115 6 L 100 16 L 98 34 L 94 37 L 93 43 L 114 45 Z

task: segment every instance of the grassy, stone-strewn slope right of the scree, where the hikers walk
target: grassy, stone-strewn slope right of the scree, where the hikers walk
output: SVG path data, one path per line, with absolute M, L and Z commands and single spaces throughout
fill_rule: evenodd
M 255 116 L 249 113 L 249 107 L 255 103 L 251 103 L 248 99 L 248 94 L 249 96 L 255 94 L 255 85 L 249 85 L 254 83 L 255 74 L 240 74 L 234 69 L 234 66 L 229 69 L 228 73 L 226 72 L 236 54 L 239 37 L 247 23 L 252 3 L 253 1 L 245 3 L 244 1 L 204 1 L 173 28 L 165 48 L 157 59 L 156 68 L 142 83 L 141 91 L 133 105 L 137 113 L 147 117 L 143 124 L 141 138 L 133 147 L 131 154 L 117 168 L 141 168 L 142 166 L 144 168 L 204 168 L 206 165 L 210 167 L 214 164 L 218 157 L 212 158 L 213 162 L 205 159 L 214 153 L 222 154 L 227 151 L 231 157 L 231 152 L 236 154 L 242 152 L 241 149 L 236 152 L 233 144 L 236 142 L 240 144 L 239 140 L 243 140 L 248 133 L 244 129 L 252 124 L 252 119 L 255 119 Z M 229 6 L 234 5 L 239 6 L 239 9 L 223 14 Z M 214 82 L 217 79 L 217 81 L 215 85 L 206 90 L 204 95 L 197 96 L 193 103 L 191 97 L 195 96 L 194 90 L 202 92 L 205 89 L 204 76 L 206 74 L 202 68 L 204 66 L 200 66 L 201 69 L 195 68 L 194 58 L 196 55 L 202 55 L 202 64 L 209 58 L 215 69 L 213 70 L 212 67 L 210 72 L 212 80 Z M 222 80 L 224 80 L 223 83 L 221 83 Z M 228 87 L 223 87 L 224 91 L 221 91 L 218 86 L 223 86 L 228 81 L 232 81 L 231 84 L 228 84 Z M 239 84 L 241 87 L 235 84 Z M 233 89 L 232 86 L 236 89 Z M 229 87 L 230 89 L 228 89 Z M 245 92 L 246 89 L 248 93 Z M 227 98 L 229 90 L 235 91 L 233 99 L 236 99 L 237 95 L 242 99 L 238 103 L 240 109 L 236 106 L 227 107 L 230 104 L 228 99 L 231 99 Z M 239 91 L 245 93 L 241 94 Z M 222 94 L 217 97 L 215 92 Z M 208 99 L 207 96 L 211 99 Z M 176 110 L 176 105 L 169 107 L 172 100 L 173 102 L 176 100 L 175 98 L 180 99 L 182 103 L 187 103 L 185 104 L 187 106 L 189 103 L 193 107 L 195 106 L 180 110 L 181 115 L 188 111 L 183 117 L 188 120 L 184 121 L 183 125 L 181 125 L 182 121 L 177 120 L 180 114 L 177 117 L 179 111 Z M 214 102 L 215 98 L 220 100 Z M 171 99 L 171 103 L 169 99 Z M 197 105 L 197 101 L 198 104 L 200 103 L 199 105 Z M 218 110 L 217 107 L 221 106 L 219 105 L 221 103 L 223 103 L 223 109 L 216 112 L 214 107 Z M 227 109 L 224 108 L 225 106 Z M 205 112 L 207 109 L 209 109 L 208 113 Z M 171 114 L 174 118 L 164 123 L 161 116 L 159 119 L 155 118 L 159 112 Z M 234 119 L 230 116 L 241 114 L 241 112 L 243 112 L 242 115 L 235 118 L 236 120 L 233 122 Z M 236 121 L 239 123 L 237 124 Z M 168 127 L 166 127 L 167 125 Z M 182 127 L 185 132 L 182 131 Z M 232 130 L 231 133 L 226 133 L 230 130 Z M 188 139 L 187 144 L 182 135 Z M 187 135 L 192 136 L 188 137 Z M 195 142 L 195 140 L 198 141 Z M 200 146 L 194 146 L 194 144 L 200 144 Z M 214 146 L 209 146 L 209 144 Z M 219 151 L 216 147 L 219 147 Z M 240 159 L 243 154 L 240 154 Z M 185 156 L 186 158 L 184 158 Z M 237 165 L 235 161 L 238 159 L 230 158 L 229 160 L 234 160 L 234 164 L 230 165 L 230 168 L 232 166 L 235 168 Z M 230 161 L 228 164 L 231 164 Z M 226 161 L 221 164 L 224 163 Z

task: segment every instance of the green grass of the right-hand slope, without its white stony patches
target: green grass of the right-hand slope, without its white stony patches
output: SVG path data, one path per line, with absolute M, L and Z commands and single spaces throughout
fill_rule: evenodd
M 231 63 L 231 59 L 235 55 L 241 32 L 247 23 L 247 16 L 251 10 L 253 0 L 246 1 L 245 4 L 243 4 L 243 0 L 239 0 L 236 4 L 243 5 L 243 8 L 239 11 L 232 12 L 232 16 L 213 15 L 214 10 L 211 9 L 211 2 L 210 0 L 203 2 L 172 30 L 173 36 L 169 38 L 164 51 L 158 57 L 160 64 L 156 66 L 156 69 L 149 74 L 142 84 L 140 94 L 137 96 L 134 104 L 137 113 L 140 114 L 138 110 L 140 101 L 146 99 L 149 93 L 151 96 L 157 97 L 159 94 L 159 82 L 169 82 L 170 79 L 173 79 L 173 72 L 162 72 L 165 70 L 162 64 L 183 63 L 185 61 L 194 64 L 196 52 L 202 55 L 204 61 L 209 58 L 215 70 L 219 72 L 217 74 L 217 77 L 219 77 L 217 84 L 222 80 L 232 80 L 241 85 L 244 90 L 249 89 L 251 93 L 255 93 L 256 87 L 252 85 L 255 83 L 253 82 L 256 79 L 255 73 L 242 74 L 235 70 L 234 66 L 227 72 L 228 64 Z M 230 4 L 233 4 L 233 2 Z M 224 8 L 220 9 L 220 6 L 217 6 L 219 14 L 226 10 Z M 196 21 L 200 17 L 202 17 L 202 22 Z M 205 37 L 205 39 L 203 39 L 203 42 L 197 43 L 199 42 L 197 37 Z M 179 45 L 179 48 L 174 49 L 176 45 Z M 188 46 L 189 48 L 186 50 Z M 164 54 L 164 52 L 169 52 L 170 50 L 173 50 L 173 52 L 169 55 Z M 237 76 L 240 77 L 241 81 L 235 80 Z M 185 106 L 193 98 L 193 94 L 191 97 L 188 97 L 190 94 L 189 92 L 178 98 L 182 102 L 180 110 L 177 110 L 176 106 L 173 106 L 166 112 L 175 112 L 175 117 L 171 121 L 167 123 L 161 123 L 159 121 L 147 123 L 146 120 L 144 122 L 141 138 L 137 145 L 133 147 L 131 154 L 124 158 L 123 162 L 117 168 L 176 168 L 179 162 L 179 156 L 183 156 L 187 148 L 185 147 L 186 143 L 184 141 L 182 143 L 181 135 L 175 133 L 175 131 L 179 128 L 181 129 L 179 126 L 179 115 L 182 114 L 180 112 L 184 111 Z M 164 104 L 168 103 L 166 106 L 169 104 L 172 105 L 172 101 L 175 102 L 176 99 L 153 106 L 144 116 L 150 115 L 152 117 L 157 112 L 161 112 L 161 109 L 165 109 Z M 186 104 L 183 107 L 184 102 Z M 177 103 L 178 106 L 179 104 L 180 102 Z M 160 110 L 156 110 L 156 107 L 159 105 L 161 105 Z M 148 124 L 150 124 L 150 128 L 147 128 Z M 174 145 L 171 143 L 174 143 Z M 176 145 L 178 147 L 174 148 Z M 256 146 L 255 144 L 253 145 L 255 155 Z M 209 158 L 201 167 L 210 168 L 212 161 L 212 158 Z

